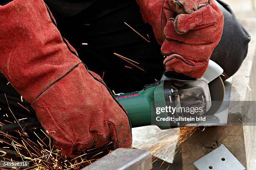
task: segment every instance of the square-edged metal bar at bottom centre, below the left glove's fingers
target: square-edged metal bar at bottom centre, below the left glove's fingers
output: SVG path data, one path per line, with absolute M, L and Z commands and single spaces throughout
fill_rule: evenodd
M 118 148 L 82 170 L 151 170 L 151 154 L 146 150 Z

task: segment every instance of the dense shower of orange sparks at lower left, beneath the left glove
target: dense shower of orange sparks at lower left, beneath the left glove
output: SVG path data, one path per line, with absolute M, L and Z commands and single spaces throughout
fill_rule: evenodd
M 9 103 L 6 95 L 5 99 L 7 108 L 9 108 L 9 111 L 13 115 L 12 110 L 8 107 Z M 18 103 L 18 105 L 24 108 L 20 103 Z M 4 122 L 12 124 L 22 122 L 26 119 L 27 118 L 22 117 L 16 118 L 14 115 L 8 117 L 6 114 Z M 3 126 L 5 124 L 0 122 L 0 125 Z M 41 128 L 33 128 L 32 132 L 33 133 L 26 133 L 23 130 L 16 130 L 14 132 L 4 133 L 0 131 L 1 160 L 27 161 L 29 168 L 25 170 L 80 170 L 110 152 L 107 145 L 105 147 L 88 150 L 74 159 L 67 158 L 61 155 L 61 150 L 54 146 L 48 131 L 44 131 Z M 9 158 L 6 158 L 6 155 L 8 155 Z

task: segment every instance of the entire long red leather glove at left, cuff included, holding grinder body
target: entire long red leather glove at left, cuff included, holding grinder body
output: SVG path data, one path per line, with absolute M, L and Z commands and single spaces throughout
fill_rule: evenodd
M 131 146 L 125 110 L 61 37 L 43 0 L 0 6 L 0 21 L 0 70 L 64 155 L 110 141 Z

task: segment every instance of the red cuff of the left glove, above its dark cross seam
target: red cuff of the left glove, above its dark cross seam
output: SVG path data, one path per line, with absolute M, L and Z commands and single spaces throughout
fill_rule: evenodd
M 0 20 L 0 70 L 28 102 L 81 63 L 43 0 L 0 6 Z

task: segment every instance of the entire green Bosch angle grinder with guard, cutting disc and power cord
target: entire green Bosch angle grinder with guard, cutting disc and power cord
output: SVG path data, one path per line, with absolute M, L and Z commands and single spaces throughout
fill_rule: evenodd
M 217 105 L 212 102 L 224 99 L 225 88 L 220 78 L 222 73 L 223 69 L 210 60 L 205 74 L 200 79 L 188 79 L 173 72 L 165 72 L 159 82 L 145 85 L 141 91 L 121 93 L 114 97 L 127 111 L 132 128 L 146 125 L 157 125 L 161 129 L 181 127 L 190 122 L 180 119 L 182 117 L 213 115 L 218 111 L 221 102 Z M 172 108 L 176 110 L 168 112 Z M 200 111 L 191 112 L 191 108 L 199 108 Z M 161 113 L 158 113 L 160 111 Z M 172 120 L 158 121 L 161 118 Z M 0 130 L 8 132 L 40 126 L 40 122 L 34 120 L 4 125 Z

